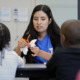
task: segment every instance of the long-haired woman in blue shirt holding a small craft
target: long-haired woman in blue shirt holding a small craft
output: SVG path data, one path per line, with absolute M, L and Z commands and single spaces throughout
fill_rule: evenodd
M 47 5 L 37 5 L 34 8 L 23 38 L 27 39 L 27 37 L 29 37 L 29 41 L 37 39 L 37 42 L 36 47 L 29 48 L 25 56 L 26 63 L 46 63 L 51 58 L 55 48 L 60 46 L 60 28 Z M 20 48 L 26 45 L 25 40 L 20 39 L 18 41 L 18 48 L 16 49 L 18 55 L 22 55 Z

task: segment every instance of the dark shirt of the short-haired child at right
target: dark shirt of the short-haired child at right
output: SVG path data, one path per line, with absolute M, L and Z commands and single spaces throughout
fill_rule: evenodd
M 80 69 L 80 49 L 58 48 L 46 66 L 56 80 L 75 80 Z

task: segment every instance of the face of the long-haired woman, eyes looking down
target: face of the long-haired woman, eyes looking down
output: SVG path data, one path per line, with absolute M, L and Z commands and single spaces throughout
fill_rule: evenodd
M 51 19 L 43 11 L 37 11 L 33 16 L 33 26 L 38 33 L 47 32 L 50 23 Z

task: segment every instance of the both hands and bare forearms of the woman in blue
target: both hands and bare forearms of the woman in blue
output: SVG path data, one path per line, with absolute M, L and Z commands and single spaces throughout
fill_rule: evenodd
M 24 39 L 20 39 L 18 41 L 18 47 L 16 49 L 16 52 L 17 52 L 18 55 L 21 55 L 20 48 L 27 46 L 27 44 L 28 43 Z M 52 54 L 40 50 L 39 47 L 31 47 L 30 45 L 28 47 L 34 53 L 34 54 L 32 54 L 32 56 L 40 56 L 40 57 L 42 57 L 42 58 L 44 58 L 46 60 L 49 60 L 51 58 L 51 56 L 52 56 Z

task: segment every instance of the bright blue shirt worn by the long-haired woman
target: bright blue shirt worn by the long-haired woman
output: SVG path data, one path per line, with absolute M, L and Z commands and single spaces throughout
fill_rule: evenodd
M 53 53 L 53 47 L 52 47 L 50 37 L 49 37 L 48 34 L 46 35 L 44 40 L 42 40 L 42 41 L 37 40 L 36 46 L 38 46 L 39 49 L 42 50 L 42 51 L 45 51 L 45 52 L 48 52 L 48 53 Z M 36 56 L 35 61 L 36 61 L 36 63 L 46 63 L 47 62 L 47 60 L 45 60 L 45 59 L 43 59 L 39 56 Z

